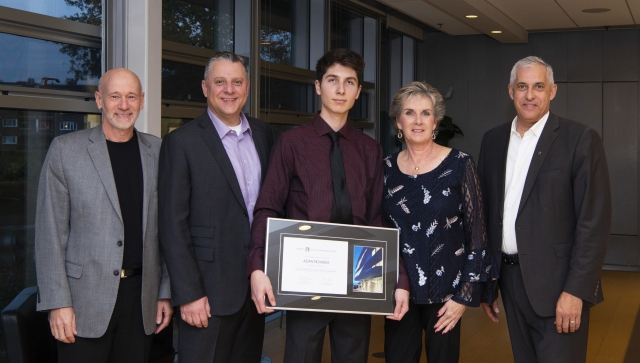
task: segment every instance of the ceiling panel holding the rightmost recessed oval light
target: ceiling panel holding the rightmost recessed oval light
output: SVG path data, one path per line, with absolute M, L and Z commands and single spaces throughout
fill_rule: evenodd
M 556 0 L 581 28 L 634 25 L 625 0 Z M 607 8 L 606 13 L 584 13 L 584 9 Z

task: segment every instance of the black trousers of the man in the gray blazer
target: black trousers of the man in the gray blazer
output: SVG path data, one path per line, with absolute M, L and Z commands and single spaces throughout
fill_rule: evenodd
M 153 334 L 142 322 L 142 275 L 120 280 L 118 298 L 107 331 L 100 338 L 76 336 L 75 343 L 58 341 L 60 363 L 146 363 Z

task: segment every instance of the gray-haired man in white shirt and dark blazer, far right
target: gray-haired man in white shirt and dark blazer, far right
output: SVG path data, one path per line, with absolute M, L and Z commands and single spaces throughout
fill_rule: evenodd
M 518 61 L 509 84 L 517 116 L 484 135 L 478 160 L 516 363 L 585 362 L 589 308 L 603 300 L 604 148 L 595 130 L 549 112 L 556 91 L 549 64 Z M 483 307 L 497 321 L 489 300 Z

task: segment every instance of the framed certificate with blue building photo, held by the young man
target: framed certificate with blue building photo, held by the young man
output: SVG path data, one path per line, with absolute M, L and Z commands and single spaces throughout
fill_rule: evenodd
M 266 241 L 272 308 L 393 314 L 397 229 L 269 218 Z

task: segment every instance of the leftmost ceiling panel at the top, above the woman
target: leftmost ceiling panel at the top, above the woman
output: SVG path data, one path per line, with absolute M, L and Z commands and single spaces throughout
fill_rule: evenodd
M 472 27 L 452 18 L 432 5 L 422 0 L 378 0 L 379 2 L 395 8 L 410 17 L 428 24 L 434 29 L 450 35 L 478 34 Z M 461 1 L 461 0 L 460 0 Z M 440 27 L 438 24 L 442 24 Z

